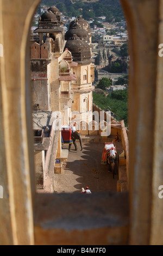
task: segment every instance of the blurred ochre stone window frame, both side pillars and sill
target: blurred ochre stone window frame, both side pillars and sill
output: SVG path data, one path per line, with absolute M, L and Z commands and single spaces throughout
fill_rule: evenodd
M 53 194 L 40 196 L 35 194 L 33 182 L 29 45 L 27 42 L 33 15 L 41 1 L 28 0 L 23 3 L 18 1 L 18 10 L 22 10 L 22 15 L 16 15 L 17 0 L 11 1 L 12 15 L 10 12 L 5 12 L 6 9 L 10 9 L 10 1 L 5 3 L 0 0 L 0 33 L 2 35 L 0 44 L 4 48 L 4 56 L 0 60 L 2 89 L 0 118 L 2 127 L 14 127 L 11 130 L 1 128 L 1 156 L 3 158 L 1 160 L 3 174 L 2 172 L 1 174 L 4 183 L 3 212 L 0 212 L 1 242 L 14 245 L 39 244 L 41 241 L 45 244 L 48 242 L 55 244 L 57 240 L 55 227 L 58 227 L 60 234 L 65 238 L 66 234 L 70 237 L 72 218 L 75 217 L 77 229 L 73 241 L 77 243 L 80 242 L 79 237 L 81 235 L 84 237 L 85 234 L 85 231 L 81 231 L 79 223 L 82 210 L 79 214 L 75 212 L 77 215 L 71 215 L 71 221 L 67 222 L 65 232 L 61 230 L 61 225 L 59 225 L 61 222 L 55 222 L 51 216 L 52 212 L 55 214 L 56 209 L 58 210 L 59 205 L 61 213 L 64 210 L 64 203 L 67 205 L 66 202 L 69 203 L 68 207 L 75 206 L 76 196 Z M 13 2 L 15 2 L 15 7 Z M 26 8 L 24 8 L 24 3 Z M 160 143 L 163 141 L 161 97 L 163 94 L 163 60 L 158 56 L 158 45 L 163 42 L 163 13 L 161 11 L 163 1 L 121 0 L 121 3 L 128 23 L 130 52 L 129 197 L 128 193 L 103 193 L 100 196 L 96 194 L 86 202 L 85 199 L 80 198 L 80 208 L 89 209 L 92 220 L 94 220 L 94 222 L 88 222 L 91 227 L 88 225 L 87 231 L 92 234 L 92 229 L 96 227 L 97 233 L 94 233 L 98 234 L 97 239 L 94 240 L 96 244 L 99 238 L 103 237 L 102 244 L 106 242 L 107 244 L 160 245 L 163 237 L 161 222 L 163 205 L 158 197 L 157 188 L 162 181 L 163 169 L 162 159 L 159 157 L 163 153 Z M 4 22 L 2 22 L 3 18 Z M 14 19 L 15 22 L 5 22 L 10 19 Z M 9 31 L 14 32 L 14 29 L 19 26 L 22 29 L 12 34 L 12 44 L 10 42 L 6 44 L 5 36 Z M 17 42 L 17 47 L 13 42 Z M 19 60 L 17 65 L 16 59 Z M 157 151 L 160 154 L 156 155 Z M 19 161 L 16 162 L 15 159 Z M 107 214 L 105 206 L 108 204 L 110 207 L 107 209 Z M 97 227 L 96 212 L 94 213 L 93 210 L 100 207 L 106 215 L 99 212 Z M 49 214 L 41 215 L 41 212 L 47 213 L 48 211 Z M 110 220 L 115 220 L 115 216 L 119 222 L 109 222 L 109 217 Z M 66 221 L 62 214 L 60 219 L 63 222 Z M 48 229 L 46 225 L 48 221 L 51 221 L 54 228 Z M 102 223 L 105 223 L 104 226 Z M 50 240 L 51 237 L 55 237 L 56 240 Z M 61 235 L 59 237 L 61 239 Z

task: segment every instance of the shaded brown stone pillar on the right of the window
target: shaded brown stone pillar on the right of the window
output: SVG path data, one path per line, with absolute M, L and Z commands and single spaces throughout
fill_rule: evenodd
M 131 245 L 162 244 L 163 1 L 121 0 L 129 32 L 129 196 Z

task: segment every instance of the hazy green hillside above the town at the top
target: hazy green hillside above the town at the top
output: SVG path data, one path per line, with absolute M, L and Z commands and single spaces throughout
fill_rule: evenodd
M 84 19 L 106 16 L 107 22 L 120 22 L 124 19 L 119 0 L 43 0 L 42 4 L 49 7 L 55 5 L 66 16 L 82 15 Z

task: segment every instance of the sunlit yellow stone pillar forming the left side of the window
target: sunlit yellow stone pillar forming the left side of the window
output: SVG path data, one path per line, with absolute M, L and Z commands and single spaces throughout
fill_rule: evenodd
M 39 2 L 0 0 L 1 245 L 34 244 L 35 178 L 27 39 Z

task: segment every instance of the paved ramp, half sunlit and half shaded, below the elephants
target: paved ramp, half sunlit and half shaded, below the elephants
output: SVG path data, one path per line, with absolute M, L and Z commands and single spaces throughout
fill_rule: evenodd
M 83 150 L 68 153 L 62 174 L 55 174 L 54 190 L 58 193 L 80 193 L 82 187 L 89 186 L 91 192 L 116 191 L 118 175 L 115 179 L 108 172 L 109 166 L 101 164 L 104 143 L 83 143 Z M 68 149 L 68 145 L 63 145 Z

